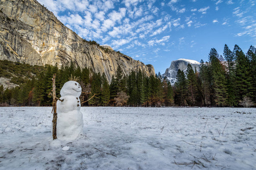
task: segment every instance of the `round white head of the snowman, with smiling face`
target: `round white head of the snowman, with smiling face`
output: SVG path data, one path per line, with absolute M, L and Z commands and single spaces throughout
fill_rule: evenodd
M 79 97 L 81 95 L 81 92 L 82 88 L 79 83 L 75 81 L 68 81 L 61 88 L 60 95 L 62 97 L 67 95 Z

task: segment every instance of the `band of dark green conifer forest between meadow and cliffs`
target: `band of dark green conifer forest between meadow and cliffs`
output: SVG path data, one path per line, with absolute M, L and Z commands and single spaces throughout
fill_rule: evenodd
M 56 73 L 56 94 L 72 76 L 82 87 L 81 101 L 89 106 L 251 106 L 256 101 L 256 49 L 250 46 L 243 53 L 238 45 L 230 50 L 224 47 L 223 56 L 212 48 L 208 61 L 201 60 L 200 69 L 194 71 L 188 64 L 187 71 L 177 72 L 174 86 L 159 74 L 146 76 L 141 70 L 129 76 L 118 67 L 109 84 L 105 74 L 80 69 L 74 63 L 62 66 L 31 66 L 19 62 L 0 61 L 1 77 L 11 78 L 19 84 L 15 88 L 0 86 L 0 105 L 50 106 L 52 76 Z M 15 75 L 15 76 L 14 76 Z

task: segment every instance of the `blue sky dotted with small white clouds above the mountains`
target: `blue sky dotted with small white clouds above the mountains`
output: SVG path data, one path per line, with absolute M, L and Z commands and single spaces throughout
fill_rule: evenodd
M 38 0 L 86 40 L 109 45 L 152 64 L 161 74 L 171 61 L 208 61 L 211 48 L 256 46 L 256 1 Z

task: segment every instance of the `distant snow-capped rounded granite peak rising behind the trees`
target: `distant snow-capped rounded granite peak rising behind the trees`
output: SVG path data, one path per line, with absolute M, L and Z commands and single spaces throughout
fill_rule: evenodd
M 163 76 L 166 76 L 168 80 L 170 80 L 171 84 L 173 85 L 176 82 L 176 75 L 177 71 L 180 69 L 181 71 L 187 71 L 188 63 L 191 64 L 192 68 L 197 71 L 199 71 L 200 62 L 197 62 L 192 59 L 177 59 L 175 61 L 171 62 L 171 66 L 166 69 L 166 73 L 163 74 Z

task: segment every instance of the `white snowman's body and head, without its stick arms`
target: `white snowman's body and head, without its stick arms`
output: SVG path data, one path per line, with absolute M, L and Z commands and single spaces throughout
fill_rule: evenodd
M 82 113 L 79 96 L 82 88 L 75 81 L 66 82 L 60 90 L 60 99 L 57 101 L 57 138 L 72 141 L 82 134 Z

